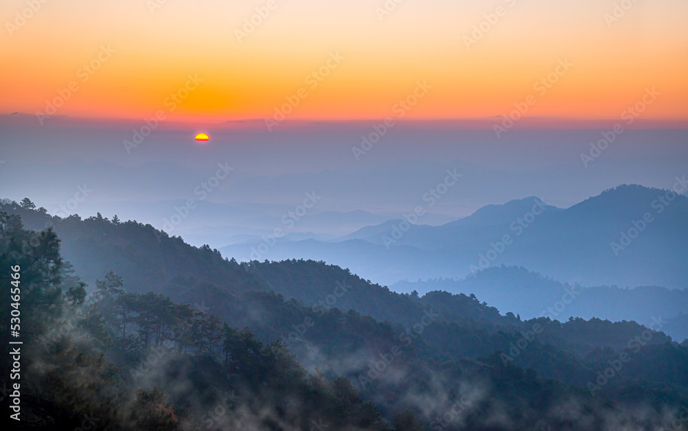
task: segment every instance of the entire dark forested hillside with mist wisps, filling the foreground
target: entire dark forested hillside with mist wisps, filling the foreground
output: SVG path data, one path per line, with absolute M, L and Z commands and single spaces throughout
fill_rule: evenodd
M 5 206 L 34 225 L 47 217 Z M 0 214 L 0 267 L 19 264 L 30 292 L 28 429 L 74 429 L 89 414 L 107 430 L 639 431 L 688 403 L 688 349 L 635 322 L 522 321 L 473 296 L 394 294 L 322 262 L 239 265 L 158 243 L 139 223 L 54 220 L 63 244 L 87 251 L 62 256 L 55 233 Z M 128 269 L 147 252 L 169 273 L 147 282 L 155 273 Z M 155 261 L 167 253 L 191 263 Z M 87 296 L 63 263 L 73 256 L 119 261 Z

